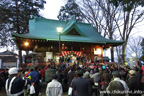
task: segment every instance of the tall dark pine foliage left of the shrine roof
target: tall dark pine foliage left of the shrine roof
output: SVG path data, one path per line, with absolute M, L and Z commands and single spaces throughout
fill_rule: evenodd
M 40 16 L 39 9 L 44 8 L 44 3 L 44 0 L 11 0 L 4 11 L 4 16 L 8 17 L 7 23 L 12 24 L 9 30 L 19 34 L 28 33 L 28 21 L 31 15 Z

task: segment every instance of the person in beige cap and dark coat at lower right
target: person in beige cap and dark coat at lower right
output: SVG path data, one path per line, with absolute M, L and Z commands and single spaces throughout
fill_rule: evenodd
M 129 71 L 129 79 L 128 79 L 128 87 L 129 90 L 133 93 L 130 93 L 129 96 L 141 96 L 142 93 L 138 92 L 135 93 L 135 91 L 141 91 L 142 84 L 141 81 L 137 78 L 135 75 L 135 70 Z

